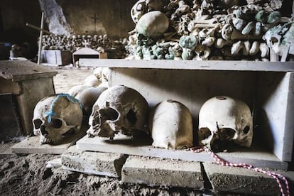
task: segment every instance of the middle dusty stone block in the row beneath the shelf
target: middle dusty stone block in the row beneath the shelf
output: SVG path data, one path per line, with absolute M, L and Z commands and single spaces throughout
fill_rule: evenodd
M 121 173 L 123 183 L 149 186 L 204 187 L 199 162 L 129 156 Z

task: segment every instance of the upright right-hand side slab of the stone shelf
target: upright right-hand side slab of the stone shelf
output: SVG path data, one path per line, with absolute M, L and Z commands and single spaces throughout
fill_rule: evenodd
M 256 133 L 280 160 L 293 160 L 294 141 L 294 72 L 268 72 L 258 78 Z M 278 106 L 278 107 L 277 107 Z M 258 134 L 256 134 L 258 135 Z

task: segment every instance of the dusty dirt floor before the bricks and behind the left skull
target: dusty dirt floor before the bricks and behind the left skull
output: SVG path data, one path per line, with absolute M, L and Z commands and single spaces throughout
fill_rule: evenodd
M 56 93 L 68 92 L 82 85 L 93 69 L 50 67 L 57 70 L 54 77 Z M 9 144 L 11 145 L 11 144 Z M 4 141 L 0 141 L 4 146 Z M 200 190 L 175 187 L 147 187 L 121 183 L 120 179 L 46 168 L 46 162 L 60 158 L 50 154 L 1 156 L 0 195 L 210 195 Z

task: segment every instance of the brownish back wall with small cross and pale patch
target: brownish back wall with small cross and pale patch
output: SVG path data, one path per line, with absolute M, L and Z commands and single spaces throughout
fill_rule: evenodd
M 56 34 L 107 34 L 109 38 L 127 37 L 135 27 L 131 20 L 131 7 L 136 0 L 39 0 L 48 21 L 60 23 L 67 32 L 60 32 L 60 25 L 49 26 Z M 62 13 L 60 13 L 60 8 Z M 58 18 L 56 17 L 58 15 Z M 97 17 L 96 29 L 94 15 Z M 65 21 L 63 20 L 65 18 Z M 96 31 L 95 31 L 96 30 Z

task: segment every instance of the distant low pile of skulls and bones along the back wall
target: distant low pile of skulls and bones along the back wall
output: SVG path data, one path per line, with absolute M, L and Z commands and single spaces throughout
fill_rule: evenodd
M 80 48 L 87 47 L 93 50 L 116 49 L 116 58 L 125 58 L 127 45 L 126 39 L 111 40 L 107 35 L 104 36 L 90 36 L 90 35 L 44 35 L 42 37 L 43 50 L 69 50 L 71 53 Z

